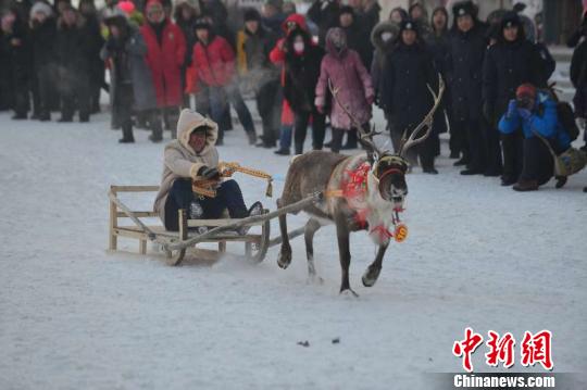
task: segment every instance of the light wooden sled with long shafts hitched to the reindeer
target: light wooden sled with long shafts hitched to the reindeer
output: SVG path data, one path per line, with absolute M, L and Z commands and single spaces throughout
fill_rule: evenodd
M 118 199 L 118 193 L 125 192 L 155 192 L 159 186 L 111 186 L 110 198 L 110 223 L 109 223 L 109 249 L 117 250 L 118 237 L 127 237 L 139 240 L 139 253 L 147 253 L 147 241 L 159 243 L 163 247 L 168 265 L 179 265 L 184 260 L 186 250 L 195 248 L 202 242 L 215 242 L 218 246 L 218 253 L 226 252 L 227 242 L 243 242 L 245 254 L 252 262 L 262 262 L 270 247 L 279 244 L 280 237 L 270 239 L 271 219 L 282 214 L 301 210 L 309 203 L 322 198 L 322 193 L 314 193 L 298 203 L 287 207 L 270 212 L 264 210 L 263 214 L 247 218 L 224 218 L 224 219 L 190 219 L 184 210 L 179 210 L 179 231 L 166 230 L 161 224 L 147 225 L 141 218 L 159 218 L 159 214 L 153 211 L 130 210 Z M 130 219 L 133 224 L 120 219 Z M 261 231 L 241 235 L 237 230 L 245 226 L 260 226 Z M 207 227 L 208 230 L 199 230 Z M 296 229 L 288 234 L 289 238 L 295 238 L 303 234 L 303 228 Z

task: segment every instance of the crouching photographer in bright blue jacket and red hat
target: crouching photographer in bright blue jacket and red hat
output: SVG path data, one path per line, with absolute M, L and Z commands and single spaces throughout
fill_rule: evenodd
M 537 190 L 552 176 L 557 178 L 557 188 L 561 188 L 567 176 L 585 166 L 587 156 L 571 148 L 571 141 L 576 138 L 574 133 L 578 133 L 572 128 L 572 114 L 571 121 L 565 116 L 561 103 L 548 90 L 537 89 L 532 84 L 517 88 L 515 99 L 510 100 L 498 126 L 504 135 L 521 131 L 524 137 L 522 174 L 514 190 Z

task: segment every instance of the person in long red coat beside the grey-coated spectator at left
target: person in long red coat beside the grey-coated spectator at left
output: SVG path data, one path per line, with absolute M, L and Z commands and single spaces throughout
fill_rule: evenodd
M 165 127 L 172 128 L 182 105 L 186 39 L 182 29 L 165 17 L 159 0 L 149 0 L 145 10 L 147 23 L 140 27 L 140 33 L 147 43 L 147 64 L 153 77 L 157 105 L 163 111 Z

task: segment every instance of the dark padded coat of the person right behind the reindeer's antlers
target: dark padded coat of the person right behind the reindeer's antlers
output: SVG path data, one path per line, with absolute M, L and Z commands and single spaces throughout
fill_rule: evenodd
M 432 54 L 423 43 L 401 41 L 388 55 L 384 70 L 382 105 L 390 114 L 394 128 L 403 131 L 419 125 L 433 100 L 426 85 L 438 89 Z

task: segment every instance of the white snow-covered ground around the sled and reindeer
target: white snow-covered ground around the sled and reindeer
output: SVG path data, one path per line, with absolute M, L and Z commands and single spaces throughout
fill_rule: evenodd
M 109 253 L 109 185 L 159 184 L 163 144 L 141 130 L 118 144 L 108 115 L 91 121 L 0 114 L 0 389 L 429 389 L 429 373 L 462 370 L 451 350 L 467 326 L 510 331 L 516 345 L 525 330 L 551 330 L 554 372 L 587 387 L 587 172 L 517 193 L 462 177 L 446 158 L 438 176 L 415 169 L 410 237 L 371 289 L 360 277 L 375 248 L 352 236 L 350 299 L 338 294 L 333 227 L 316 235 L 323 285 L 307 282 L 300 239 L 287 271 L 277 248 L 259 265 L 176 268 L 152 248 L 136 254 L 133 240 L 121 247 L 135 253 Z M 241 129 L 225 142 L 224 160 L 285 175 L 289 159 L 246 147 Z M 237 178 L 249 204 L 263 199 L 263 181 Z M 125 200 L 149 207 L 152 194 Z M 515 358 L 525 372 L 517 347 Z

